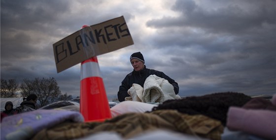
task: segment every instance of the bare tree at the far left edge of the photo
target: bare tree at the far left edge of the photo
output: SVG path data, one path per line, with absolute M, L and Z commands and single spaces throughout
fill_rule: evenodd
M 16 91 L 18 90 L 18 83 L 15 79 L 4 80 L 1 78 L 1 98 L 13 98 L 16 97 Z

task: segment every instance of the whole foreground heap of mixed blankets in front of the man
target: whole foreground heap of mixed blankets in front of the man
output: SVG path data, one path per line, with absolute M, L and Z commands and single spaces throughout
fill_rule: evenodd
M 276 140 L 276 94 L 272 101 L 235 92 L 167 100 L 104 122 L 84 122 L 64 105 L 4 117 L 1 140 Z

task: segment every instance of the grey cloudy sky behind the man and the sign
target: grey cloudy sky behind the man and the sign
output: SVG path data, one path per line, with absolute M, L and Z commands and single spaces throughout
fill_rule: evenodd
M 138 51 L 180 96 L 276 93 L 276 0 L 1 0 L 1 78 L 54 77 L 62 93 L 79 96 L 80 64 L 57 73 L 52 45 L 120 16 L 134 45 L 98 56 L 108 98 Z

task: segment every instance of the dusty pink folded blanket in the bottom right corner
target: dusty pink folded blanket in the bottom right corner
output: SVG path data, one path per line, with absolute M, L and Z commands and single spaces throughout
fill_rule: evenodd
M 276 112 L 230 107 L 227 127 L 266 139 L 276 139 Z

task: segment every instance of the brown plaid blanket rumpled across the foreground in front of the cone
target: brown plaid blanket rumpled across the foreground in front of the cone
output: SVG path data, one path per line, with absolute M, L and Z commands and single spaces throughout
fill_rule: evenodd
M 211 140 L 220 140 L 223 126 L 217 120 L 205 115 L 188 115 L 174 110 L 160 110 L 150 113 L 126 113 L 105 122 L 65 122 L 44 129 L 32 140 L 71 140 L 98 132 L 109 131 L 129 139 L 154 129 L 167 129 Z

